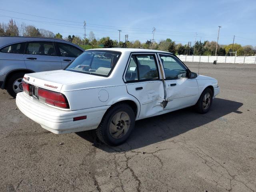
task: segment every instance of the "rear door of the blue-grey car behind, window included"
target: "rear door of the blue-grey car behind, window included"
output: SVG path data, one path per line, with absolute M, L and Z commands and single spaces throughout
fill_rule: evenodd
M 62 69 L 60 57 L 50 41 L 28 41 L 24 61 L 27 68 L 35 72 Z

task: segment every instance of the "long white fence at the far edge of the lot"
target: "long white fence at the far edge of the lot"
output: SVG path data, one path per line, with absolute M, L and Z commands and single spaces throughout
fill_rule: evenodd
M 240 64 L 256 64 L 256 56 L 188 56 L 177 55 L 183 62 L 205 62 L 213 63 L 216 60 L 218 63 L 240 63 Z

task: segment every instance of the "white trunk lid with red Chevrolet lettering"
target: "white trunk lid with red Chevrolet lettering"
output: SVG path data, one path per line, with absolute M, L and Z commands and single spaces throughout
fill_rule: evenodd
M 56 92 L 60 92 L 64 84 L 74 84 L 102 78 L 105 77 L 66 70 L 45 71 L 24 75 L 24 81 L 29 84 Z

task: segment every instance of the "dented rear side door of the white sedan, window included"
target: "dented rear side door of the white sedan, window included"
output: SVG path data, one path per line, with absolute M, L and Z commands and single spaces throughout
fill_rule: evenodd
M 132 53 L 124 81 L 129 94 L 140 102 L 139 119 L 163 111 L 164 85 L 154 53 Z

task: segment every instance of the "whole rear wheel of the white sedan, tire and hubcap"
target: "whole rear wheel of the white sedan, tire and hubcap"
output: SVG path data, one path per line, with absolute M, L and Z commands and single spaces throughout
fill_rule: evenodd
M 117 146 L 126 141 L 135 125 L 135 114 L 127 104 L 110 108 L 96 129 L 100 141 Z

